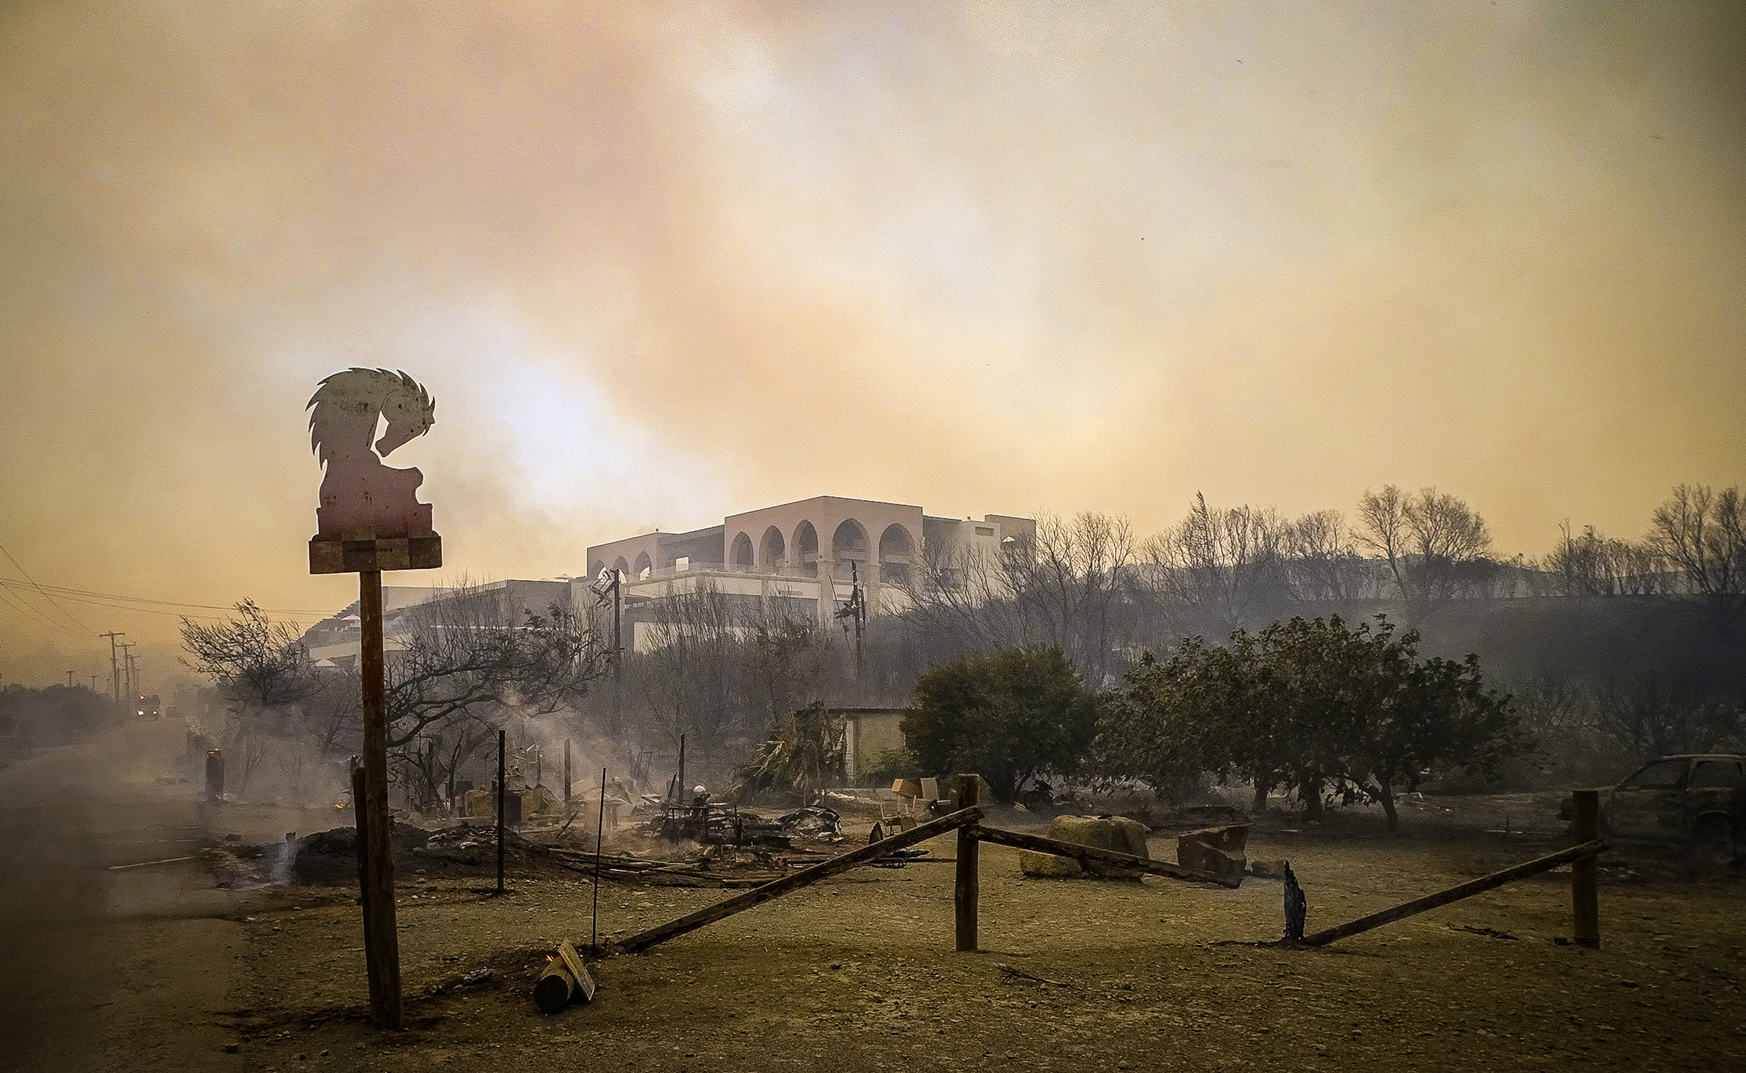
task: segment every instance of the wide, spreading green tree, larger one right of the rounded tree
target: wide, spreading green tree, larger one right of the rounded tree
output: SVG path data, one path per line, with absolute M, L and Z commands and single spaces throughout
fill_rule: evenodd
M 1419 660 L 1418 640 L 1381 618 L 1353 628 L 1337 616 L 1238 630 L 1224 647 L 1191 639 L 1170 660 L 1142 660 L 1105 700 L 1096 762 L 1158 790 L 1194 771 L 1241 776 L 1257 811 L 1282 782 L 1311 817 L 1325 790 L 1374 799 L 1395 829 L 1395 796 L 1425 771 L 1489 776 L 1531 748 L 1475 656 Z

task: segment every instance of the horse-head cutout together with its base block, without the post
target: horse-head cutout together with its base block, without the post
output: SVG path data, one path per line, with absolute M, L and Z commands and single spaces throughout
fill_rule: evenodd
M 309 447 L 325 469 L 309 572 L 440 567 L 442 537 L 431 529 L 431 506 L 419 502 L 424 475 L 382 462 L 430 431 L 436 400 L 407 373 L 347 368 L 321 380 L 307 410 Z M 381 419 L 388 429 L 377 440 Z

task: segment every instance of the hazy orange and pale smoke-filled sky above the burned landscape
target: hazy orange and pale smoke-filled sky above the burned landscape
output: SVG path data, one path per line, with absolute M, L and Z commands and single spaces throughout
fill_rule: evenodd
M 9 3 L 0 541 L 344 604 L 302 407 L 349 365 L 438 400 L 391 462 L 447 579 L 817 494 L 1639 536 L 1746 469 L 1741 12 Z M 0 607 L 7 680 L 87 649 Z

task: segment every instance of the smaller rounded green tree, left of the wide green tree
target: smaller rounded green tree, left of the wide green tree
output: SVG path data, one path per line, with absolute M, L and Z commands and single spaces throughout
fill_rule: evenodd
M 903 735 L 924 771 L 974 771 L 995 801 L 1042 771 L 1079 764 L 1096 733 L 1096 698 L 1060 647 L 943 663 L 915 682 Z

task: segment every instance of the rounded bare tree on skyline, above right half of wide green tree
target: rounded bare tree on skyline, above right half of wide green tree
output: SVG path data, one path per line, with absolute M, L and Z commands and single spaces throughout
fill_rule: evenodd
M 1416 619 L 1481 590 L 1495 572 L 1486 520 L 1437 489 L 1421 489 L 1418 495 L 1397 485 L 1365 492 L 1358 520 L 1358 541 L 1388 564 L 1395 590 Z

